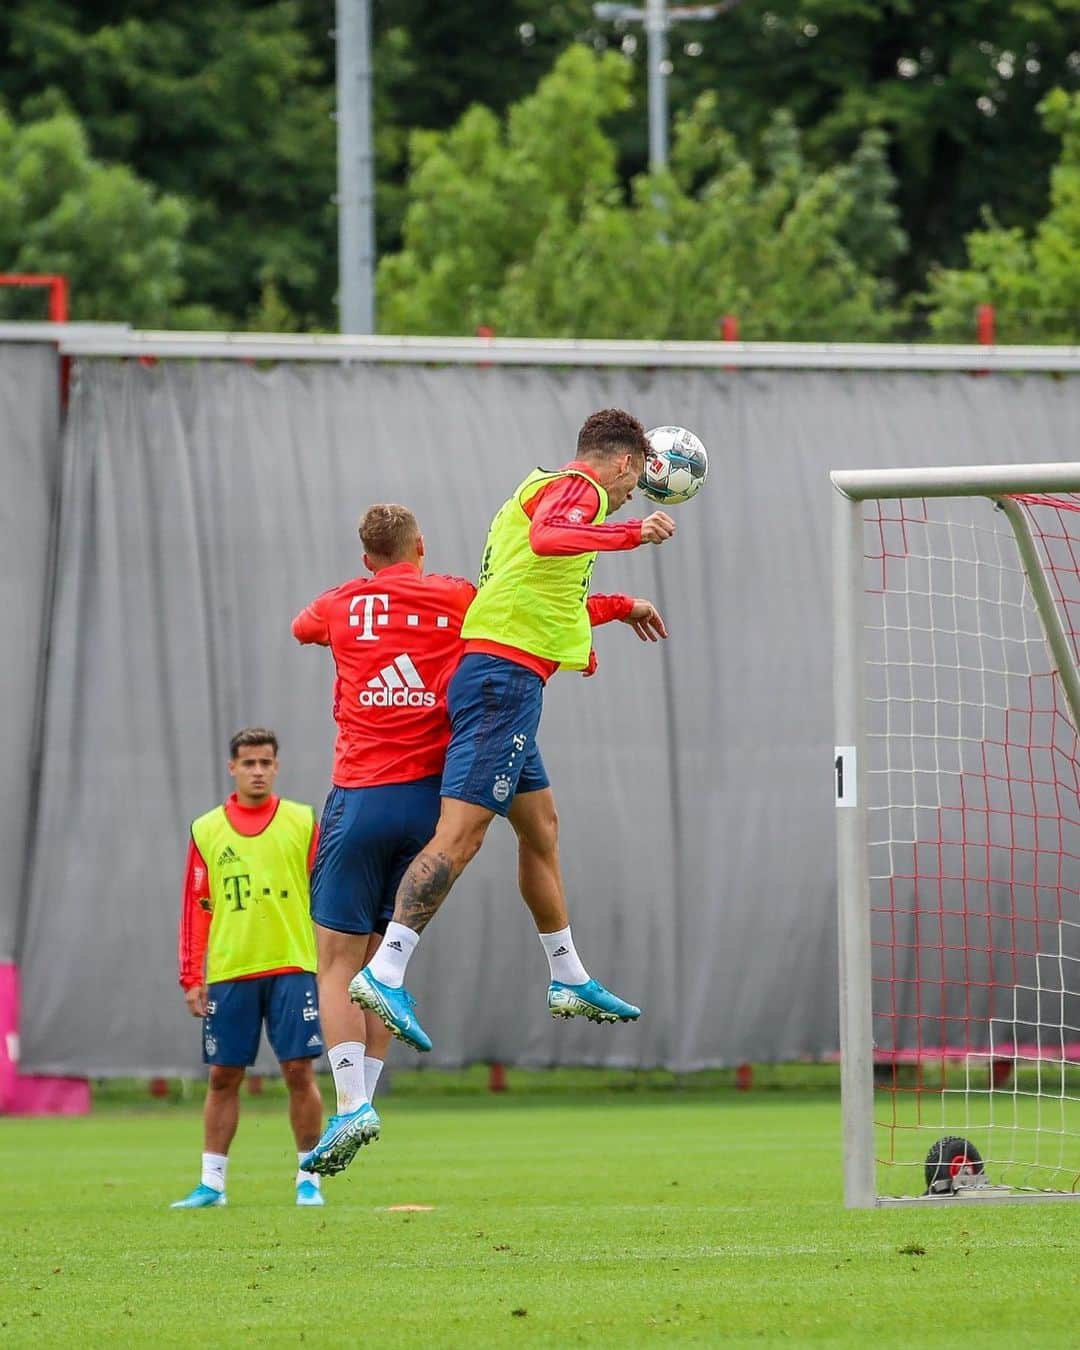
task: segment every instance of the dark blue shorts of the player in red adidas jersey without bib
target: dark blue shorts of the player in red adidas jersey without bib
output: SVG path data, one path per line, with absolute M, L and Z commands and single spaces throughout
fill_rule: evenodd
M 336 933 L 385 933 L 405 868 L 439 824 L 439 776 L 332 787 L 312 868 L 312 918 Z

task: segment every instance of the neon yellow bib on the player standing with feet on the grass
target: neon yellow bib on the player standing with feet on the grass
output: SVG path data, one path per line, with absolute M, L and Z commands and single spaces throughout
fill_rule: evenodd
M 310 806 L 285 798 L 262 834 L 238 834 L 224 806 L 192 825 L 211 883 L 208 983 L 288 965 L 315 971 L 308 888 L 313 830 Z

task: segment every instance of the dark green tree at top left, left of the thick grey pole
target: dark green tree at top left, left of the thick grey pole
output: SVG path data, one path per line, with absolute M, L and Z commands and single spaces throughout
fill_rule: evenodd
M 243 324 L 274 297 L 333 324 L 333 74 L 301 0 L 12 0 L 0 94 L 23 117 L 63 100 L 92 153 L 188 202 L 192 294 Z M 89 244 L 88 244 L 89 246 Z

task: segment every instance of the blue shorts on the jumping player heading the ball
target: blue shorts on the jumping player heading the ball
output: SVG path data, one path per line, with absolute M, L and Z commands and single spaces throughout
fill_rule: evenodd
M 548 787 L 536 744 L 543 707 L 539 675 L 501 656 L 463 656 L 447 691 L 451 733 L 443 796 L 506 815 L 516 792 Z

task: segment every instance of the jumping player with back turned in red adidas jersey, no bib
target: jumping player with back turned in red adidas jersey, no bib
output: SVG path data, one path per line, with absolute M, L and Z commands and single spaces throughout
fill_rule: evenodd
M 450 724 L 447 684 L 462 655 L 462 621 L 475 587 L 424 575 L 416 516 L 394 504 L 360 521 L 358 576 L 325 591 L 293 620 L 300 643 L 329 647 L 338 671 L 338 742 L 312 872 L 319 1000 L 338 1111 L 304 1158 L 333 1174 L 378 1138 L 371 1106 L 390 1033 L 348 998 L 394 909 L 405 868 L 439 819 Z

